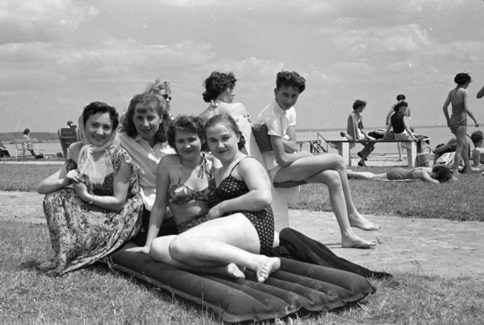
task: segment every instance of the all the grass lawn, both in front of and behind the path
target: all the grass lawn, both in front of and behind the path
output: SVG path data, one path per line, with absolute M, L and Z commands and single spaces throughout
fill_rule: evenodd
M 35 191 L 59 168 L 0 163 L 0 190 Z M 481 174 L 441 185 L 355 179 L 349 184 L 363 214 L 484 220 Z M 326 186 L 301 186 L 290 208 L 331 211 Z M 35 266 L 50 254 L 45 225 L 2 223 L 0 324 L 220 324 L 212 312 L 102 263 L 48 278 Z M 275 324 L 484 324 L 483 281 L 393 275 L 375 280 L 378 292 L 359 304 L 330 313 L 299 312 Z

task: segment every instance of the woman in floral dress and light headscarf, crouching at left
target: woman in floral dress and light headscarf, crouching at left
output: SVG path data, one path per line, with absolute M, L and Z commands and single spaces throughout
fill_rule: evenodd
M 77 128 L 81 141 L 71 144 L 62 168 L 37 189 L 46 194 L 43 207 L 55 254 L 39 266 L 47 275 L 91 264 L 139 230 L 143 201 L 131 157 L 113 144 L 118 124 L 114 107 L 86 106 Z

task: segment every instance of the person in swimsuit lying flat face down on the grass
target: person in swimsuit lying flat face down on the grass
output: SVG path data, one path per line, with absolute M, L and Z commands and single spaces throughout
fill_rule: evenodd
M 446 183 L 456 180 L 452 171 L 445 166 L 435 165 L 434 167 L 417 167 L 413 169 L 392 168 L 382 174 L 374 174 L 369 171 L 354 172 L 346 170 L 348 178 L 378 179 L 388 181 L 419 180 L 434 184 Z

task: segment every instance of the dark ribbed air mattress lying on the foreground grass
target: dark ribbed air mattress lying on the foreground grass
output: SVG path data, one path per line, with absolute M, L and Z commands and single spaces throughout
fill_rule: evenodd
M 356 264 L 348 267 L 342 263 L 345 264 L 342 268 L 348 272 L 281 257 L 281 268 L 264 283 L 258 283 L 255 273 L 249 270 L 245 271 L 245 279 L 232 279 L 218 274 L 180 270 L 155 261 L 149 254 L 124 250 L 136 246 L 136 243 L 143 245 L 144 241 L 129 242 L 111 254 L 111 266 L 195 301 L 213 310 L 225 322 L 280 318 L 302 308 L 327 311 L 376 292 L 376 287 L 359 275 L 370 276 L 373 273 L 362 272 L 361 269 L 353 271 L 352 265 Z

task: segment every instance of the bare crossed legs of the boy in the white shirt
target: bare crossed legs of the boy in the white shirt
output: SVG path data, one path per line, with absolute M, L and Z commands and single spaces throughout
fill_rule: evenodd
M 336 154 L 308 156 L 282 167 L 274 182 L 300 181 L 328 186 L 330 203 L 341 231 L 343 247 L 370 247 L 376 241 L 368 241 L 353 233 L 351 227 L 365 231 L 380 227 L 360 215 L 356 210 L 349 189 L 348 176 L 343 158 Z

